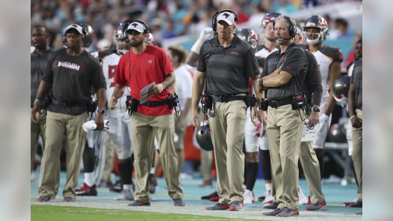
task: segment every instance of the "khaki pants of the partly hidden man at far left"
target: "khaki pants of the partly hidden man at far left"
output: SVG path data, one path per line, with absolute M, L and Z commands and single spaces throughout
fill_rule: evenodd
M 30 113 L 32 108 L 30 108 Z M 34 162 L 34 156 L 35 152 L 37 151 L 37 144 L 38 144 L 38 139 L 41 135 L 42 137 L 42 144 L 45 147 L 45 129 L 46 129 L 46 114 L 44 114 L 44 110 L 41 111 L 41 116 L 37 113 L 37 120 L 35 121 L 33 119 L 33 115 L 31 115 L 30 119 L 30 170 L 33 170 L 33 162 Z

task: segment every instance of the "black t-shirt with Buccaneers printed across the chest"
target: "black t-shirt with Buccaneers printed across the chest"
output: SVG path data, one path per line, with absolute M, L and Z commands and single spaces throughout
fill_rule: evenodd
M 96 91 L 99 88 L 106 88 L 105 78 L 97 59 L 86 51 L 77 56 L 69 55 L 65 48 L 49 56 L 42 80 L 52 83 L 52 97 L 60 102 L 85 104 L 90 100 L 92 87 Z M 51 105 L 49 111 L 79 115 L 86 111 L 86 106 Z

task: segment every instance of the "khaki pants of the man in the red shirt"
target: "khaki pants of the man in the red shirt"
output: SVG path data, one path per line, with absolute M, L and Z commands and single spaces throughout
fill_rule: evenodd
M 149 203 L 149 175 L 153 164 L 154 135 L 160 149 L 160 161 L 172 199 L 183 197 L 180 188 L 178 163 L 174 150 L 173 114 L 147 116 L 134 112 L 131 116 L 132 146 L 134 147 L 134 167 L 136 192 L 135 200 Z

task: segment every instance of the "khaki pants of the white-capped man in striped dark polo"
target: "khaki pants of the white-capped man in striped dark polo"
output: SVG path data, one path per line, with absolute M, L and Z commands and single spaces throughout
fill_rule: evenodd
M 209 118 L 217 170 L 219 203 L 244 201 L 243 134 L 246 123 L 244 101 L 215 103 L 215 115 Z

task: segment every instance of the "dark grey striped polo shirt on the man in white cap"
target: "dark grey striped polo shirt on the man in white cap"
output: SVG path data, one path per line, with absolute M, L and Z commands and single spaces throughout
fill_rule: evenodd
M 250 44 L 237 35 L 227 47 L 220 45 L 218 36 L 205 41 L 196 70 L 206 72 L 207 93 L 218 96 L 248 94 L 249 77 L 260 74 Z

